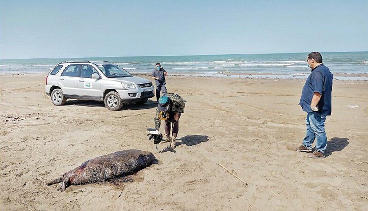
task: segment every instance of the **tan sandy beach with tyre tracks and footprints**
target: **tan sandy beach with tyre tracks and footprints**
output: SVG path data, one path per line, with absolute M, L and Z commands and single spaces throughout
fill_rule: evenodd
M 154 98 L 119 111 L 92 101 L 54 106 L 45 77 L 0 76 L 0 210 L 368 210 L 368 81 L 334 80 L 325 159 L 294 150 L 305 135 L 305 80 L 166 81 L 186 107 L 177 148 L 157 153 L 145 134 Z M 158 163 L 118 185 L 45 185 L 126 149 L 156 153 Z

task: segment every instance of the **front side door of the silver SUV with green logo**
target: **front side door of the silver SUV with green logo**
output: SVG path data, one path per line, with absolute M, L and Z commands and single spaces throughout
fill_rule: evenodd
M 103 93 L 101 90 L 101 80 L 92 79 L 92 74 L 94 73 L 97 73 L 100 76 L 98 71 L 92 65 L 82 65 L 81 76 L 78 79 L 77 95 L 90 97 L 96 100 L 102 100 Z

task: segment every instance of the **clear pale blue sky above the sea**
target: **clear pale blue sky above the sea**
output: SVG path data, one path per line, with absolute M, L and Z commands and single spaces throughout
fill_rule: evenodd
M 0 0 L 0 59 L 368 51 L 368 0 Z

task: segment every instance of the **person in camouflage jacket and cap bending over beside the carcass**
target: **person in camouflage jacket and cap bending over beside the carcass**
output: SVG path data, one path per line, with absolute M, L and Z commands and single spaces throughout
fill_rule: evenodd
M 184 107 L 184 100 L 178 94 L 168 93 L 158 99 L 155 128 L 159 129 L 161 120 L 165 121 L 165 139 L 170 141 L 170 148 L 172 149 L 176 147 L 175 141 L 179 132 L 179 119 L 180 115 L 184 113 Z M 172 137 L 170 137 L 170 132 Z

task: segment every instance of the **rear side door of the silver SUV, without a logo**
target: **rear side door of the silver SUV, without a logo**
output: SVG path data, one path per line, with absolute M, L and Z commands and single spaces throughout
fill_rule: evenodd
M 60 76 L 61 89 L 65 95 L 77 95 L 80 64 L 71 64 Z

